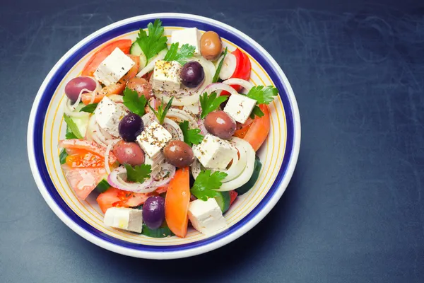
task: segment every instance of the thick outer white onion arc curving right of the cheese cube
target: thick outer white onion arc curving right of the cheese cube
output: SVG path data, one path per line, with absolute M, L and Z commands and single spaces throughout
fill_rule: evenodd
M 245 183 L 247 183 L 247 181 L 249 181 L 250 178 L 252 177 L 253 169 L 254 169 L 255 152 L 252 146 L 244 139 L 239 139 L 238 137 L 232 137 L 230 141 L 235 143 L 235 145 L 237 146 L 237 149 L 240 149 L 240 150 L 245 149 L 247 162 L 246 162 L 245 170 L 243 170 L 242 173 L 237 178 L 223 183 L 223 185 L 221 185 L 221 187 L 217 189 L 220 192 L 235 190 L 237 189 L 237 187 L 241 187 L 242 185 L 245 185 Z

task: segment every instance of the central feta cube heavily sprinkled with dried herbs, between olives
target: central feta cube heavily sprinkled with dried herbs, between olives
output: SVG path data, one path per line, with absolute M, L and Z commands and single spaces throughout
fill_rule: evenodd
M 172 135 L 155 121 L 146 127 L 139 137 L 137 137 L 141 149 L 143 149 L 153 160 L 161 154 L 160 150 L 163 149 L 171 139 Z

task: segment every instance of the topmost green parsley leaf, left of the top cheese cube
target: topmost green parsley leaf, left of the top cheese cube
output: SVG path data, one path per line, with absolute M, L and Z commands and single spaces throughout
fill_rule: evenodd
M 163 35 L 164 28 L 162 26 L 162 21 L 158 18 L 154 23 L 148 23 L 147 29 L 148 35 L 146 30 L 139 30 L 139 37 L 137 37 L 136 42 L 140 45 L 148 61 L 160 51 L 167 48 L 167 38 Z

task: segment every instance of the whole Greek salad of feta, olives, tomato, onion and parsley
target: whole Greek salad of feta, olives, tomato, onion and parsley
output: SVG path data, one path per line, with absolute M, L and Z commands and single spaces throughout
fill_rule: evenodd
M 98 193 L 106 226 L 211 235 L 257 181 L 278 90 L 249 82 L 247 54 L 213 31 L 179 29 L 167 41 L 157 19 L 93 54 L 65 87 L 59 160 L 81 200 Z

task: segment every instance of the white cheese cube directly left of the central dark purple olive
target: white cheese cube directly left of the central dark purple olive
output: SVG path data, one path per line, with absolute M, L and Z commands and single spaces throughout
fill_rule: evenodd
M 118 125 L 126 112 L 122 105 L 117 105 L 105 96 L 94 110 L 98 125 L 114 137 L 119 137 Z

